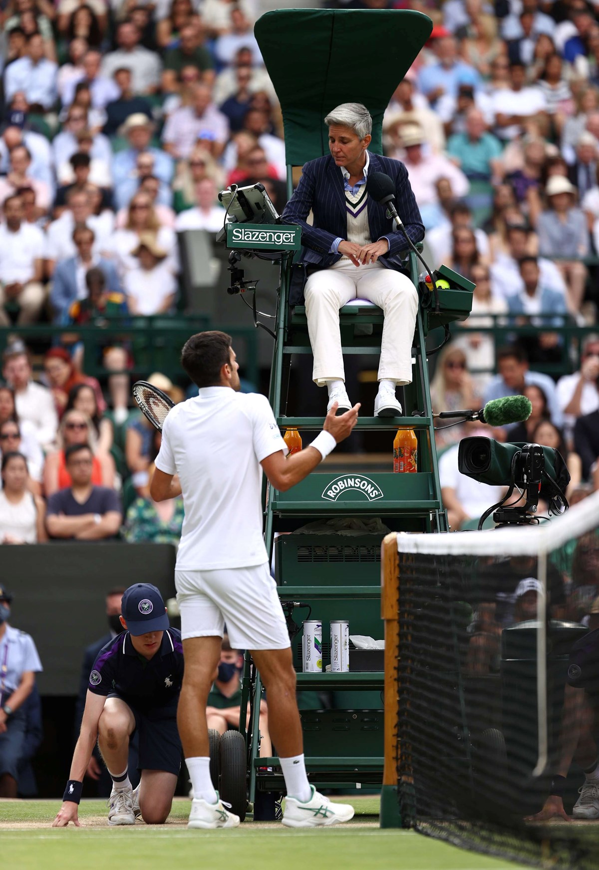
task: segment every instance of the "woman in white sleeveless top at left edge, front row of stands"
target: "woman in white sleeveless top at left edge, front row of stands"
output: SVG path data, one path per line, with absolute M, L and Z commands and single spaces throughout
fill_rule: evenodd
M 3 453 L 0 544 L 38 544 L 46 541 L 45 513 L 43 499 L 30 491 L 29 469 L 23 453 Z

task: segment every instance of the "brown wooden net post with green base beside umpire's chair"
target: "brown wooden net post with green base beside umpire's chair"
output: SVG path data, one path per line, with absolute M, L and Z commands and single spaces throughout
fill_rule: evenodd
M 385 535 L 381 545 L 381 617 L 385 624 L 384 766 L 381 827 L 402 827 L 397 793 L 397 650 L 399 648 L 399 565 L 397 535 Z

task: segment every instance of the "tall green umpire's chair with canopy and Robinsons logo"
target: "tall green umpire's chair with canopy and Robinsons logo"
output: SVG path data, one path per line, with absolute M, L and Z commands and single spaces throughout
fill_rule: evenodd
M 428 39 L 432 22 L 413 11 L 277 10 L 256 23 L 256 38 L 283 110 L 288 185 L 292 167 L 328 153 L 327 111 L 349 101 L 367 105 L 373 117 L 371 150 L 382 151 L 383 111 L 396 85 Z M 359 46 L 359 64 L 351 47 Z M 296 417 L 288 406 L 291 359 L 311 355 L 305 309 L 291 308 L 290 276 L 295 233 L 288 228 L 272 259 L 281 259 L 276 311 L 276 343 L 270 377 L 270 404 L 282 430 L 322 429 L 323 417 Z M 248 233 L 239 233 L 230 247 L 252 249 Z M 257 237 L 256 237 L 257 238 Z M 280 237 L 283 239 L 283 237 Z M 262 256 L 269 256 L 259 244 Z M 409 274 L 417 284 L 417 260 L 408 257 Z M 449 274 L 449 272 L 447 273 Z M 380 545 L 383 534 L 294 534 L 314 519 L 382 519 L 394 531 L 446 532 L 436 462 L 425 350 L 428 332 L 468 317 L 472 285 L 459 276 L 440 291 L 439 311 L 419 306 L 413 358 L 413 381 L 403 391 L 404 416 L 362 416 L 359 429 L 389 430 L 389 472 L 328 472 L 326 463 L 288 492 L 265 488 L 265 538 L 275 553 L 276 582 L 288 616 L 297 687 L 302 711 L 304 752 L 309 780 L 317 788 L 379 787 L 383 774 L 383 667 L 352 666 L 349 673 L 325 673 L 329 664 L 329 622 L 348 619 L 350 634 L 383 638 L 380 605 Z M 469 288 L 469 289 L 465 289 Z M 379 354 L 383 312 L 375 305 L 348 305 L 340 312 L 343 353 Z M 369 328 L 364 330 L 364 325 Z M 369 334 L 364 334 L 369 333 Z M 311 360 L 309 361 L 311 365 Z M 418 416 L 412 416 L 417 413 Z M 418 471 L 394 474 L 391 451 L 394 431 L 416 430 Z M 286 532 L 276 539 L 276 532 Z M 301 602 L 298 603 L 298 602 Z M 323 623 L 323 673 L 302 673 L 302 622 Z M 368 657 L 367 657 L 368 658 Z M 369 670 L 367 670 L 369 668 Z M 246 655 L 243 673 L 241 732 L 246 737 L 248 797 L 255 818 L 269 816 L 267 795 L 283 790 L 277 758 L 259 758 L 258 716 L 261 681 Z M 306 694 L 304 694 L 306 693 Z M 267 699 L 268 700 L 268 699 Z M 246 705 L 250 726 L 245 729 Z M 226 797 L 226 795 L 223 795 Z M 240 807 L 234 807 L 239 812 Z

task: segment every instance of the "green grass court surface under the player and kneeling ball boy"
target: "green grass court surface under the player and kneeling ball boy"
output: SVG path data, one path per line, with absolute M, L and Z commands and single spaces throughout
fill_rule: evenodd
M 347 825 L 306 830 L 246 821 L 230 831 L 188 831 L 189 800 L 177 799 L 166 825 L 108 827 L 103 800 L 83 800 L 82 827 L 52 828 L 60 800 L 0 801 L 3 870 L 515 870 L 519 865 L 465 852 L 412 831 L 381 830 L 378 798 L 345 799 Z

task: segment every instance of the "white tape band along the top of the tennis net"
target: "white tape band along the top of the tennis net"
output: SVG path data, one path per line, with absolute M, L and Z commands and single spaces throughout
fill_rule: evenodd
M 599 525 L 599 492 L 594 492 L 561 516 L 542 525 L 525 525 L 484 532 L 446 534 L 397 533 L 400 552 L 439 553 L 449 556 L 538 556 L 580 538 Z

